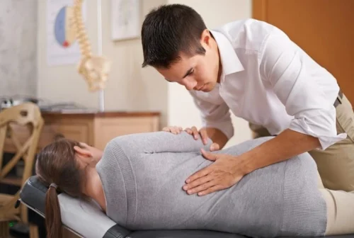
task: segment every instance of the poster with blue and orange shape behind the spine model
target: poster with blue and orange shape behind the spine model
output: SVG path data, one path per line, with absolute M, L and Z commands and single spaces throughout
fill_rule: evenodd
M 77 64 L 81 54 L 70 19 L 74 0 L 47 0 L 47 64 L 49 66 Z M 86 22 L 86 1 L 82 5 Z

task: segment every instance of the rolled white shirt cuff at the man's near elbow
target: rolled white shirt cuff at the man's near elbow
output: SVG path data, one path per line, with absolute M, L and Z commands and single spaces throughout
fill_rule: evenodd
M 295 118 L 290 123 L 290 130 L 317 137 L 321 147 L 317 149 L 326 149 L 338 141 L 344 140 L 347 137 L 346 133 L 337 135 L 336 118 L 329 111 L 321 111 L 319 115 L 312 117 Z

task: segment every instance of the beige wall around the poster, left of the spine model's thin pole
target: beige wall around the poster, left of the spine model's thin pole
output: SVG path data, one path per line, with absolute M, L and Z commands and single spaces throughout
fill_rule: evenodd
M 96 2 L 96 1 L 91 1 Z M 38 1 L 38 97 L 52 101 L 73 101 L 84 106 L 98 106 L 96 94 L 90 94 L 84 79 L 76 72 L 76 65 L 47 66 L 47 1 Z M 93 51 L 97 52 L 96 6 L 87 4 L 88 32 Z

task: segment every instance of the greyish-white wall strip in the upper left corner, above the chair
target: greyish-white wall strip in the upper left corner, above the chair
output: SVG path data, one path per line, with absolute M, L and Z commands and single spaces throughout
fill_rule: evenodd
M 0 1 L 0 98 L 36 96 L 36 31 L 36 1 Z

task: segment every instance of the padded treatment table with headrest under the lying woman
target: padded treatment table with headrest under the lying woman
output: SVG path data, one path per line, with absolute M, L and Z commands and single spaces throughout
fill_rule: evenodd
M 45 217 L 45 193 L 47 187 L 37 176 L 31 176 L 21 189 L 19 201 Z M 208 230 L 144 230 L 130 231 L 110 220 L 96 205 L 59 193 L 59 204 L 64 227 L 85 238 L 244 238 L 239 234 Z M 353 217 L 354 219 L 354 217 Z M 354 234 L 331 236 L 354 238 Z

